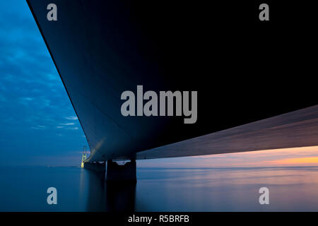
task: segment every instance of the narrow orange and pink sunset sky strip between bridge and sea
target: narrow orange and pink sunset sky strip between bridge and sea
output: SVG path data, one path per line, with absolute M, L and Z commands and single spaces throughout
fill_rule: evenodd
M 140 167 L 284 167 L 318 166 L 318 146 L 245 153 L 141 160 Z

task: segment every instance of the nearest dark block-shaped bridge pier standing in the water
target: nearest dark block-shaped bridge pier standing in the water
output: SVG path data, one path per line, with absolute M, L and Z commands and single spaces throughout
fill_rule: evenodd
M 118 165 L 112 160 L 107 161 L 106 182 L 136 182 L 136 160 Z

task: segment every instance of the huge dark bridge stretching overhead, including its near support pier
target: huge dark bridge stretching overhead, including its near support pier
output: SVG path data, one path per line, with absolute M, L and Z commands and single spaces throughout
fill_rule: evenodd
M 136 160 L 318 145 L 315 62 L 305 54 L 314 35 L 290 48 L 291 25 L 220 24 L 225 3 L 212 16 L 204 3 L 27 2 L 90 146 L 84 167 L 107 162 L 108 180 L 135 180 Z M 57 20 L 47 20 L 48 4 Z M 196 122 L 123 116 L 121 95 L 137 85 L 196 91 Z

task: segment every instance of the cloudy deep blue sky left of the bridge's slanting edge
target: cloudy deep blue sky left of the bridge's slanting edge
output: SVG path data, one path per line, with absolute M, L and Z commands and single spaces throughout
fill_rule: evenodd
M 88 145 L 26 1 L 0 1 L 0 164 L 80 161 Z

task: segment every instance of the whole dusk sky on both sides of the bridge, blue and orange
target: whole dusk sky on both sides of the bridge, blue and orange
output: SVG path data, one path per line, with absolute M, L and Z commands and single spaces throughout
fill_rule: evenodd
M 24 0 L 0 1 L 0 164 L 79 165 L 88 146 Z M 318 147 L 141 160 L 139 167 L 318 165 Z

